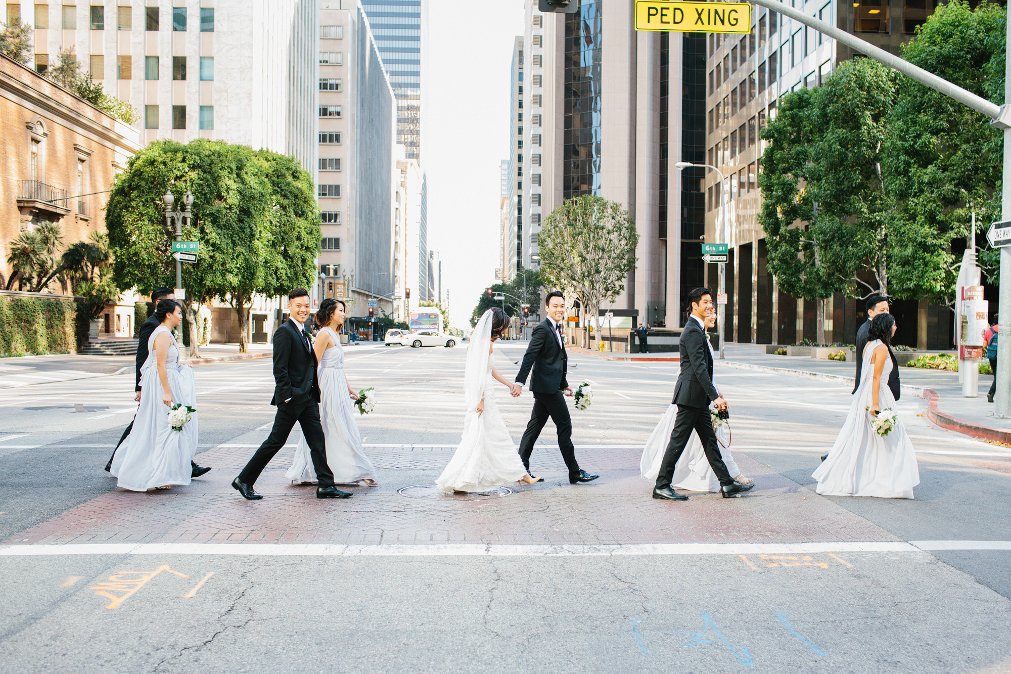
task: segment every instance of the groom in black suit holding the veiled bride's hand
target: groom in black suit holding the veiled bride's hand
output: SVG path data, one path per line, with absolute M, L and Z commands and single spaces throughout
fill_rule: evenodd
M 534 442 L 548 422 L 548 417 L 551 417 L 558 429 L 558 448 L 568 468 L 569 484 L 589 482 L 600 476 L 581 471 L 575 460 L 572 419 L 569 417 L 568 405 L 565 404 L 565 396 L 572 395 L 572 389 L 565 380 L 568 355 L 562 341 L 561 322 L 565 318 L 565 296 L 558 290 L 548 292 L 548 297 L 544 299 L 544 308 L 548 318 L 537 324 L 531 333 L 530 346 L 527 347 L 520 372 L 516 375 L 516 384 L 513 385 L 513 396 L 519 396 L 527 384 L 530 368 L 534 367 L 534 375 L 530 382 L 530 390 L 534 394 L 534 411 L 520 441 L 520 457 L 523 458 L 527 473 L 530 473 L 530 454 L 534 451 Z

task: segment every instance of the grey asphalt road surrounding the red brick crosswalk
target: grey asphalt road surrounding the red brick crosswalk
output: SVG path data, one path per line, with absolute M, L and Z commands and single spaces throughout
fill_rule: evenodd
M 522 346 L 498 350 L 496 366 L 507 376 Z M 397 445 L 383 449 L 394 453 L 455 444 L 464 356 L 460 347 L 349 349 L 352 386 L 376 389 L 376 411 L 360 420 L 366 444 Z M 0 550 L 7 581 L 0 671 L 1011 671 L 1011 551 L 964 544 L 924 552 L 904 542 L 1011 540 L 1011 461 L 1001 455 L 1009 451 L 931 428 L 917 416 L 918 399 L 899 404 L 919 452 L 916 499 L 825 499 L 814 494 L 810 475 L 841 426 L 848 390 L 718 365 L 742 469 L 763 469 L 763 481 L 789 489 L 778 497 L 756 489 L 739 500 L 693 496 L 687 504 L 663 504 L 664 512 L 683 513 L 686 530 L 745 512 L 774 519 L 787 497 L 821 503 L 825 533 L 812 538 L 823 543 L 821 552 L 776 554 L 771 534 L 770 547 L 732 547 L 755 540 L 744 525 L 721 540 L 729 546 L 717 554 L 660 546 L 624 554 L 588 538 L 570 546 L 496 546 L 495 513 L 507 513 L 514 500 L 578 499 L 587 510 L 570 522 L 573 540 L 592 526 L 620 531 L 623 517 L 641 528 L 639 507 L 655 503 L 650 486 L 635 477 L 637 464 L 619 466 L 625 450 L 612 447 L 644 443 L 669 403 L 676 364 L 578 355 L 570 362 L 570 383 L 589 381 L 596 390 L 590 410 L 573 413 L 573 439 L 583 467 L 601 480 L 573 487 L 552 473 L 558 461 L 549 424 L 532 467 L 549 479 L 543 491 L 483 502 L 481 521 L 492 524 L 477 540 L 487 545 L 451 543 L 442 552 L 377 541 L 296 555 L 254 555 L 249 544 L 228 554 L 201 554 L 198 545 L 134 555 L 91 545 L 41 555 L 41 545 L 25 545 L 21 552 L 30 554 L 15 554 L 18 536 L 32 527 L 114 495 L 102 467 L 135 405 L 131 374 L 0 391 L 0 532 L 7 543 Z M 222 444 L 265 437 L 273 418 L 269 362 L 195 372 L 201 451 L 219 456 L 213 452 Z M 518 441 L 532 399 L 526 392 L 510 399 L 504 389 L 497 399 Z M 175 501 L 158 503 L 171 508 L 201 488 L 226 490 L 228 470 L 218 465 L 206 487 L 195 481 Z M 431 468 L 380 471 L 383 495 L 357 490 L 341 503 L 396 499 L 397 489 L 436 477 Z M 278 504 L 282 497 L 266 478 L 267 498 L 255 512 L 269 517 L 271 499 Z M 439 504 L 447 517 L 457 506 Z M 606 521 L 605 506 L 617 508 Z M 382 515 L 398 512 L 390 507 Z M 468 518 L 462 521 L 466 526 Z M 892 542 L 841 552 L 844 545 L 833 546 L 846 532 L 838 522 L 881 530 Z M 818 522 L 784 521 L 783 531 L 800 524 Z M 510 526 L 522 529 L 523 522 Z M 656 541 L 676 529 L 658 525 Z

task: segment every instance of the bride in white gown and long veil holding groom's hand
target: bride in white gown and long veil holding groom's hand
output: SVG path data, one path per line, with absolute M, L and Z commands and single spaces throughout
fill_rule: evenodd
M 495 404 L 494 383 L 515 391 L 513 383 L 494 368 L 492 344 L 509 329 L 509 316 L 501 309 L 489 309 L 477 322 L 467 348 L 467 369 L 463 395 L 467 413 L 463 437 L 446 470 L 436 481 L 445 492 L 486 492 L 509 482 L 532 485 L 533 478 L 523 467 L 516 444 L 509 434 Z

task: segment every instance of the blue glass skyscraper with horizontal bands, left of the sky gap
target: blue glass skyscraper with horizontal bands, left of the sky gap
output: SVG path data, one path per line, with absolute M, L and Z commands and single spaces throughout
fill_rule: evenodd
M 396 96 L 396 142 L 407 159 L 421 159 L 422 3 L 426 0 L 362 0 L 379 57 Z

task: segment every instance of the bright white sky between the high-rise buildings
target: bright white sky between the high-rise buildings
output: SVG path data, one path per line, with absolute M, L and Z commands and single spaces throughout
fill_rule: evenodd
M 470 327 L 500 266 L 499 163 L 510 156 L 510 59 L 523 0 L 429 0 L 422 164 L 429 248 L 439 251 L 450 322 Z

